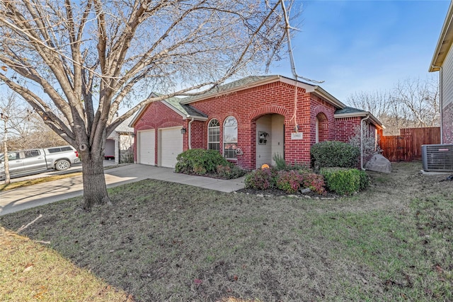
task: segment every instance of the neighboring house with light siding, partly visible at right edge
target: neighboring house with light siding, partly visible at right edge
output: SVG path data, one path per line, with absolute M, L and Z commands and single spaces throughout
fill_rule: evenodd
M 440 143 L 453 144 L 453 2 L 432 57 L 429 71 L 440 71 Z

